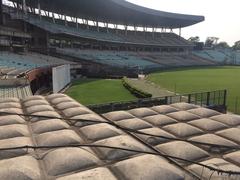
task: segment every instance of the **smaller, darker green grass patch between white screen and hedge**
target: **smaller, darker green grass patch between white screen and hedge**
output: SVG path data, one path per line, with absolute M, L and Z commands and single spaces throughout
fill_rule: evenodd
M 73 83 L 66 94 L 84 105 L 136 99 L 123 87 L 121 80 L 79 80 Z

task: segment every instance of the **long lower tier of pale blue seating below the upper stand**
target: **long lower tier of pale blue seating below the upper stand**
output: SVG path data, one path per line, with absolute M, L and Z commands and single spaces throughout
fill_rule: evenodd
M 174 55 L 157 52 L 119 52 L 79 49 L 57 49 L 60 54 L 68 55 L 85 61 L 93 61 L 117 67 L 137 67 L 141 69 L 165 68 L 181 66 L 213 65 L 211 61 L 194 55 Z

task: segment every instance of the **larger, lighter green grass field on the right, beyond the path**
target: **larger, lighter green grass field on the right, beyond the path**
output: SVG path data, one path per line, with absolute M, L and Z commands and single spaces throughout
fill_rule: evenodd
M 153 73 L 148 80 L 180 94 L 227 89 L 228 109 L 240 114 L 240 67 L 176 69 Z

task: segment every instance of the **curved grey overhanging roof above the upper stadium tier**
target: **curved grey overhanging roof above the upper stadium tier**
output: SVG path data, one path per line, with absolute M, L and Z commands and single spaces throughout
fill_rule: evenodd
M 11 0 L 22 3 L 22 0 Z M 26 0 L 37 8 L 39 0 Z M 181 28 L 204 21 L 203 16 L 184 15 L 141 7 L 125 0 L 40 0 L 41 9 L 93 21 L 143 27 Z

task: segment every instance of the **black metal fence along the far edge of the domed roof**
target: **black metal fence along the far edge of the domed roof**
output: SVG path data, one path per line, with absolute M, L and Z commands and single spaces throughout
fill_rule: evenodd
M 226 98 L 227 90 L 218 90 L 211 92 L 165 96 L 159 98 L 138 99 L 136 101 L 89 105 L 88 108 L 90 108 L 96 113 L 107 113 L 111 111 L 130 110 L 140 107 L 152 107 L 158 105 L 186 102 L 225 113 L 227 111 Z

